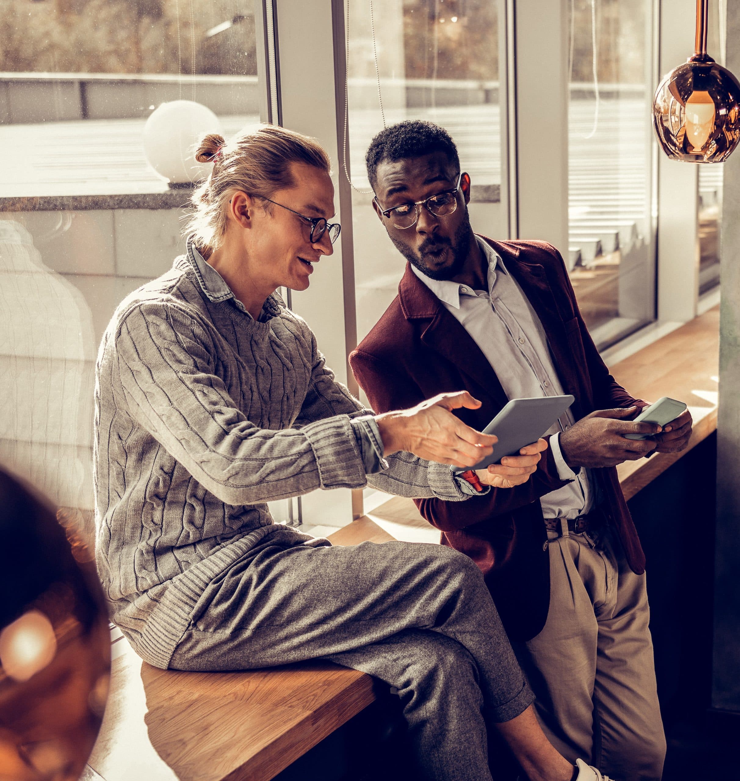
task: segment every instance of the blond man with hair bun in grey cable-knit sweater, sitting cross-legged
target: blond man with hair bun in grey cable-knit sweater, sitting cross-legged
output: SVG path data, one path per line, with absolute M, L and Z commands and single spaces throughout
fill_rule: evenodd
M 453 414 L 479 404 L 464 392 L 363 408 L 276 293 L 306 290 L 339 233 L 316 141 L 262 127 L 208 136 L 197 156 L 213 171 L 187 252 L 120 304 L 98 355 L 96 555 L 113 620 L 163 669 L 324 658 L 377 676 L 399 690 L 416 778 L 490 779 L 494 728 L 530 779 L 569 781 L 469 558 L 332 547 L 270 517 L 267 501 L 367 484 L 477 501 L 449 464 L 475 464 L 495 437 Z M 484 492 L 528 480 L 541 451 L 481 471 Z

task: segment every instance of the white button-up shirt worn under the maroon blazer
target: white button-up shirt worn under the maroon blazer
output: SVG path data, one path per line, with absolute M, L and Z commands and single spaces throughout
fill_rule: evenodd
M 533 398 L 563 394 L 552 363 L 547 336 L 537 313 L 502 259 L 477 238 L 488 259 L 488 291 L 474 291 L 457 282 L 432 280 L 412 266 L 413 273 L 439 298 L 488 358 L 506 397 Z M 570 410 L 547 432 L 560 480 L 572 480 L 541 497 L 545 518 L 577 518 L 594 505 L 588 469 L 574 473 L 560 451 L 559 434 L 575 423 Z

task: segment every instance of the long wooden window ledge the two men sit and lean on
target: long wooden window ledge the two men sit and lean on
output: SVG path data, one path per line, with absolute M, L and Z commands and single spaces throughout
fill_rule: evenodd
M 689 449 L 717 427 L 718 327 L 715 308 L 612 367 L 636 396 L 688 403 L 695 421 Z M 621 465 L 627 498 L 680 457 L 659 454 Z M 419 517 L 409 500 L 395 499 L 393 505 L 396 520 Z M 370 518 L 331 536 L 334 544 L 345 545 L 392 539 Z M 120 648 L 88 761 L 91 779 L 271 779 L 377 696 L 370 676 L 328 663 L 256 672 L 165 672 L 141 662 L 125 640 Z

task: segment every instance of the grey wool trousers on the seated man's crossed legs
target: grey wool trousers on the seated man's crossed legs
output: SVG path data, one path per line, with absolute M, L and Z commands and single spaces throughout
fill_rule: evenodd
M 399 690 L 419 778 L 491 779 L 488 726 L 534 699 L 477 566 L 429 544 L 252 551 L 203 595 L 170 667 L 316 658 Z

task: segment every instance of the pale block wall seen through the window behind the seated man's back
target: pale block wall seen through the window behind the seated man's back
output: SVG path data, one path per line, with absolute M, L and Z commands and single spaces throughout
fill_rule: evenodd
M 183 250 L 181 216 L 0 213 L 0 462 L 88 522 L 98 344 L 116 305 Z

